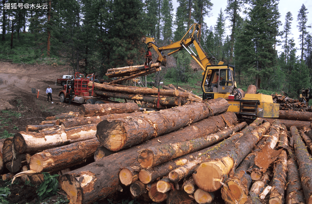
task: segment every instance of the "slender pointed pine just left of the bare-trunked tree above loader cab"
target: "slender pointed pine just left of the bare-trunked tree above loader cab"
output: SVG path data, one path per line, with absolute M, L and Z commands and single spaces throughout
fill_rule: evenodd
M 214 27 L 215 43 L 216 43 L 216 54 L 221 58 L 220 52 L 223 44 L 223 37 L 225 32 L 225 17 L 223 16 L 222 8 L 218 14 L 217 24 Z

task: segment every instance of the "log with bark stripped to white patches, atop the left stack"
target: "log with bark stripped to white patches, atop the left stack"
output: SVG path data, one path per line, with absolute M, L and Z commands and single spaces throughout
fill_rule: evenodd
M 14 135 L 14 149 L 17 153 L 37 153 L 95 138 L 96 124 L 71 128 L 60 128 L 51 132 L 19 132 Z M 12 152 L 12 149 L 11 149 Z

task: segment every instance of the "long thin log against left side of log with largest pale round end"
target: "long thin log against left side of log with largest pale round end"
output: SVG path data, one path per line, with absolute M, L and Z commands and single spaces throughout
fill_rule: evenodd
M 257 118 L 253 123 L 251 123 L 248 127 L 246 127 L 244 130 L 242 130 L 239 133 L 235 133 L 230 138 L 212 146 L 209 148 L 206 148 L 204 153 L 197 159 L 192 160 L 191 162 L 188 162 L 186 165 L 183 165 L 181 167 L 178 167 L 177 169 L 174 169 L 169 173 L 169 178 L 173 182 L 178 182 L 182 178 L 185 178 L 195 171 L 195 168 L 202 162 L 202 161 L 208 161 L 210 157 L 215 154 L 217 151 L 221 150 L 222 148 L 226 147 L 227 145 L 231 144 L 234 140 L 238 139 L 244 134 L 247 134 L 248 132 L 255 129 L 258 125 L 262 123 L 261 118 Z

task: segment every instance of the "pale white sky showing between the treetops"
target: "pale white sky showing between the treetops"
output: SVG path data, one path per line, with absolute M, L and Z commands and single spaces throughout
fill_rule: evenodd
M 210 12 L 211 16 L 210 17 L 205 17 L 205 22 L 207 23 L 207 26 L 210 27 L 214 27 L 216 25 L 217 22 L 217 17 L 218 14 L 220 13 L 220 9 L 222 9 L 222 11 L 224 12 L 224 16 L 226 16 L 225 13 L 225 8 L 227 7 L 227 0 L 210 0 L 213 3 L 212 6 L 212 10 Z M 280 0 L 279 1 L 279 12 L 280 12 L 280 22 L 282 23 L 282 25 L 279 27 L 280 31 L 282 31 L 284 29 L 284 23 L 285 23 L 285 16 L 287 12 L 291 12 L 292 17 L 293 17 L 293 21 L 291 24 L 291 33 L 292 35 L 290 37 L 293 37 L 296 43 L 296 47 L 300 48 L 299 45 L 299 29 L 296 27 L 298 25 L 297 22 L 297 15 L 298 12 L 302 6 L 302 4 L 305 5 L 305 8 L 308 9 L 306 12 L 309 12 L 307 14 L 307 25 L 310 25 L 312 27 L 312 1 L 311 0 Z M 174 8 L 174 13 L 176 12 L 176 8 L 178 7 L 178 3 L 176 0 L 173 0 L 173 8 Z M 228 28 L 228 26 L 230 25 L 229 21 L 226 21 L 226 32 L 227 35 L 230 35 L 230 31 L 231 29 Z M 312 33 L 312 28 L 307 28 L 307 31 Z M 209 49 L 209 48 L 208 48 Z M 282 47 L 278 46 L 277 47 L 277 51 L 281 52 L 282 51 Z M 297 56 L 301 56 L 301 51 L 297 50 Z

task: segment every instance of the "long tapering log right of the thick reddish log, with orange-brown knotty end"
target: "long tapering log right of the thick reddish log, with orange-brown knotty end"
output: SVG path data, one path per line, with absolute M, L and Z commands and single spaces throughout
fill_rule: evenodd
M 233 132 L 240 131 L 246 125 L 246 122 L 243 122 L 238 126 L 227 128 L 207 137 L 140 150 L 138 162 L 143 168 L 154 167 L 163 162 L 209 147 L 213 143 L 229 137 Z

